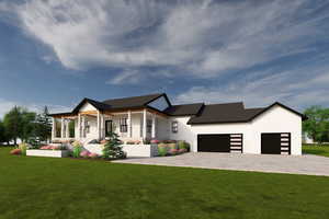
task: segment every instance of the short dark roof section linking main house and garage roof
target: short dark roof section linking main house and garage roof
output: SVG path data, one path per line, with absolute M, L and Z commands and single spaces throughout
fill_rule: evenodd
M 172 105 L 172 106 L 166 108 L 163 112 L 170 116 L 196 115 L 203 105 L 204 105 L 204 103 Z

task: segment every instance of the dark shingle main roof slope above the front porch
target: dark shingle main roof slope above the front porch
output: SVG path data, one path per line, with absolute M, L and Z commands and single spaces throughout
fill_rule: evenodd
M 103 101 L 103 104 L 107 104 L 112 110 L 116 108 L 134 108 L 146 106 L 151 101 L 164 95 L 163 93 L 143 95 L 143 96 L 133 96 L 124 99 L 112 99 Z

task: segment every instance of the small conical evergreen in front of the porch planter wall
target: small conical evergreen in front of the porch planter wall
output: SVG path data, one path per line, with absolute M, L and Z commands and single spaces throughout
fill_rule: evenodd
M 103 158 L 109 160 L 126 158 L 126 153 L 122 150 L 121 145 L 122 142 L 118 139 L 117 134 L 111 132 L 110 140 L 103 149 Z

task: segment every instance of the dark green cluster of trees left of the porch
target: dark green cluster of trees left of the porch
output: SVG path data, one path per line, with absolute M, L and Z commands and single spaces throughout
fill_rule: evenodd
M 0 143 L 18 143 L 46 141 L 52 137 L 52 120 L 47 106 L 42 113 L 30 112 L 24 107 L 14 106 L 0 119 Z

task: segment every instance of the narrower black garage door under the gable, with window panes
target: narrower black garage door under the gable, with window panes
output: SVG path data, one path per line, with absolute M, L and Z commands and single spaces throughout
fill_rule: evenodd
M 261 134 L 261 153 L 291 154 L 291 134 Z

